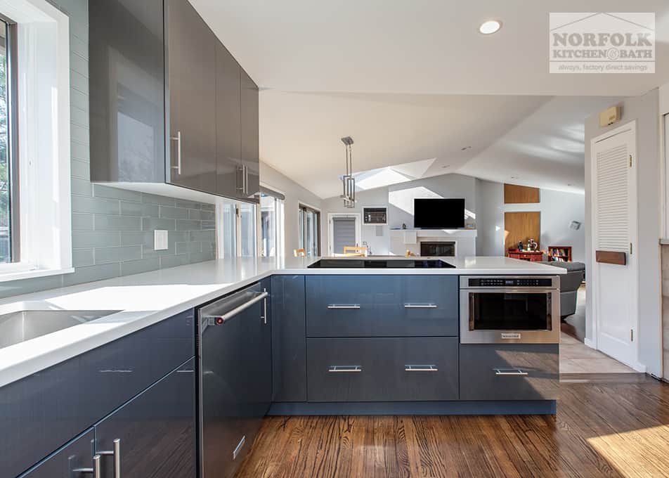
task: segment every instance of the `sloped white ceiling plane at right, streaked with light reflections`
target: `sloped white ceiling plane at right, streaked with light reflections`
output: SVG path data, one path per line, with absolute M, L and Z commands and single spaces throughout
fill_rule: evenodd
M 585 118 L 620 99 L 553 98 L 457 172 L 491 181 L 583 193 Z

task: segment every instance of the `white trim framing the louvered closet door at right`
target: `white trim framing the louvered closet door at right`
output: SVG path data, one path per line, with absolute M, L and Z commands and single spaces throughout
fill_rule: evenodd
M 639 357 L 639 342 L 637 337 L 639 336 L 639 267 L 637 261 L 637 254 L 635 254 L 635 249 L 638 245 L 638 217 L 637 217 L 637 198 L 638 198 L 638 183 L 637 183 L 637 124 L 636 121 L 629 122 L 624 124 L 621 127 L 607 131 L 606 133 L 592 138 L 590 141 L 590 177 L 592 178 L 591 190 L 590 190 L 590 200 L 591 200 L 591 225 L 592 225 L 592 249 L 590 251 L 592 257 L 592 270 L 587 271 L 589 280 L 592 280 L 592 297 L 588 297 L 588 300 L 592 301 L 592 317 L 586 318 L 590 322 L 592 327 L 592 340 L 588 340 L 587 345 L 595 349 L 599 349 L 598 342 L 598 330 L 600 328 L 601 317 L 598 314 L 598 304 L 597 297 L 599 297 L 599 268 L 597 266 L 597 261 L 595 259 L 595 251 L 597 250 L 597 244 L 599 243 L 597 237 L 597 157 L 595 155 L 595 147 L 597 143 L 604 141 L 608 138 L 616 136 L 621 133 L 631 131 L 632 133 L 632 144 L 630 145 L 630 151 L 632 151 L 632 167 L 630 168 L 630 195 L 629 195 L 629 214 L 630 214 L 630 241 L 632 243 L 632 254 L 628 254 L 628 266 L 632 269 L 632 283 L 629 284 L 630 295 L 632 297 L 631 308 L 632 311 L 635 311 L 635 318 L 632 321 L 632 330 L 635 335 L 635 340 L 632 341 L 632 363 L 628 365 L 635 368 L 635 370 L 644 372 L 646 367 L 638 362 Z

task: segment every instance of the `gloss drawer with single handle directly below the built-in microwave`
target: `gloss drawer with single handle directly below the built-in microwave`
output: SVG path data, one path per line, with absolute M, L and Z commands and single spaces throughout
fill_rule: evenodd
M 460 346 L 460 399 L 554 400 L 559 345 Z

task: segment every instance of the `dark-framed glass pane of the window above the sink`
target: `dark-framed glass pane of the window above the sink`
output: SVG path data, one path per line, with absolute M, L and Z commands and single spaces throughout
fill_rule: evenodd
M 0 263 L 20 260 L 14 43 L 15 25 L 0 20 Z

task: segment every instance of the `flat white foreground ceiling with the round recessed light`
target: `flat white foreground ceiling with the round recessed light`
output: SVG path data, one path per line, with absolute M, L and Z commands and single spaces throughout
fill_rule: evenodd
M 667 0 L 190 0 L 261 88 L 635 96 L 669 81 Z M 551 11 L 656 13 L 653 75 L 548 72 Z M 483 20 L 502 30 L 479 33 Z

